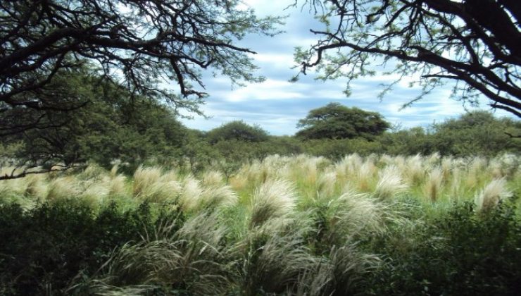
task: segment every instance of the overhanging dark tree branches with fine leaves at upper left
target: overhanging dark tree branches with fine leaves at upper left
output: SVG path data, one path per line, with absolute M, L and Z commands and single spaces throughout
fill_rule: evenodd
M 56 88 L 56 75 L 88 62 L 122 85 L 130 100 L 146 97 L 198 112 L 201 69 L 232 82 L 252 75 L 247 33 L 274 34 L 278 18 L 256 18 L 239 0 L 20 0 L 0 2 L 0 135 L 53 128 L 51 113 L 88 100 Z M 167 82 L 167 83 L 165 83 Z M 179 92 L 163 87 L 173 82 Z M 54 83 L 54 87 L 53 86 Z M 18 116 L 6 116 L 17 110 Z M 27 114 L 30 114 L 27 116 Z

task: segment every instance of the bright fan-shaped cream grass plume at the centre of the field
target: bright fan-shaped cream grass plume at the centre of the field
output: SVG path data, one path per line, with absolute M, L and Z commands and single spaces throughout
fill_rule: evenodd
M 253 193 L 250 227 L 261 226 L 270 218 L 287 215 L 295 206 L 294 187 L 287 180 L 268 180 Z

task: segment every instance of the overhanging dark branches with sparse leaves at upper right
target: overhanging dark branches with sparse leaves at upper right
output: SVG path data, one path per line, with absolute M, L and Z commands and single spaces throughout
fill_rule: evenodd
M 521 117 L 521 2 L 518 0 L 306 0 L 320 12 L 319 40 L 297 49 L 301 73 L 315 66 L 322 79 L 374 75 L 391 63 L 401 78 L 419 74 L 421 99 L 455 82 L 453 97 Z M 394 83 L 396 83 L 394 82 Z M 391 86 L 384 89 L 382 95 Z

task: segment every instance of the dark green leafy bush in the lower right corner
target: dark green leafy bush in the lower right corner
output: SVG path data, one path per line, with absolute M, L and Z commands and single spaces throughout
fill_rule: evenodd
M 366 294 L 515 295 L 521 288 L 521 221 L 512 202 L 487 213 L 456 204 L 426 222 L 371 241 L 387 261 L 368 278 Z

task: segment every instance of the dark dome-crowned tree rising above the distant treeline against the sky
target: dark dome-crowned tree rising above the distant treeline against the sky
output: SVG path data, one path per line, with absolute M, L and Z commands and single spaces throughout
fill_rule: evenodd
M 308 116 L 296 125 L 296 133 L 305 139 L 351 139 L 363 137 L 372 140 L 390 125 L 377 112 L 368 112 L 356 107 L 348 108 L 339 103 L 309 111 Z

